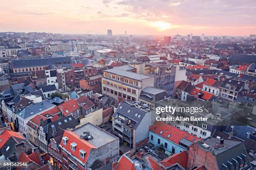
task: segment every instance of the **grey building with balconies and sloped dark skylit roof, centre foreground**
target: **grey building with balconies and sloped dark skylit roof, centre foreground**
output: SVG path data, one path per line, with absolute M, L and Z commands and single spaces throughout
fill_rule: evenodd
M 137 148 L 148 142 L 148 129 L 152 123 L 152 109 L 128 100 L 119 104 L 113 115 L 113 134 Z

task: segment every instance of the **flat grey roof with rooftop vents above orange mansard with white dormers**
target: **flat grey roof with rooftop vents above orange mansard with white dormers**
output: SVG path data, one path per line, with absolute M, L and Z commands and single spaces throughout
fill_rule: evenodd
M 101 147 L 103 145 L 106 145 L 118 139 L 118 137 L 115 137 L 113 134 L 110 134 L 104 129 L 101 129 L 100 127 L 97 127 L 90 123 L 84 124 L 81 127 L 78 127 L 77 129 L 72 130 L 72 132 L 74 132 L 79 136 L 81 134 L 84 134 L 84 132 L 90 132 L 90 135 L 92 136 L 92 138 L 87 142 L 94 145 L 95 147 Z

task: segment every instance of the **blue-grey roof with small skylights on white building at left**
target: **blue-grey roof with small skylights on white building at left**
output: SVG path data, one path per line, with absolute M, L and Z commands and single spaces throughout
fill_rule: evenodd
M 54 107 L 54 104 L 49 103 L 48 101 L 41 101 L 39 103 L 33 104 L 31 106 L 25 107 L 22 111 L 20 111 L 17 115 L 22 119 L 26 119 L 33 115 L 36 115 L 40 112 L 43 112 L 46 109 Z

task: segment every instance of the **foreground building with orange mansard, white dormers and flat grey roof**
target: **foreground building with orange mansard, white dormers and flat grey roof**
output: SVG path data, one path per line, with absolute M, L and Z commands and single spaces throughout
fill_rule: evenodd
M 119 138 L 90 123 L 65 130 L 59 146 L 64 170 L 87 170 L 95 161 L 106 165 L 119 156 Z

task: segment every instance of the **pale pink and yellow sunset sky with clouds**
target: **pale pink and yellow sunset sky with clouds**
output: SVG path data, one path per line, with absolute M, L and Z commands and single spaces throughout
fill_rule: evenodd
M 256 0 L 0 0 L 0 16 L 0 32 L 256 34 Z

